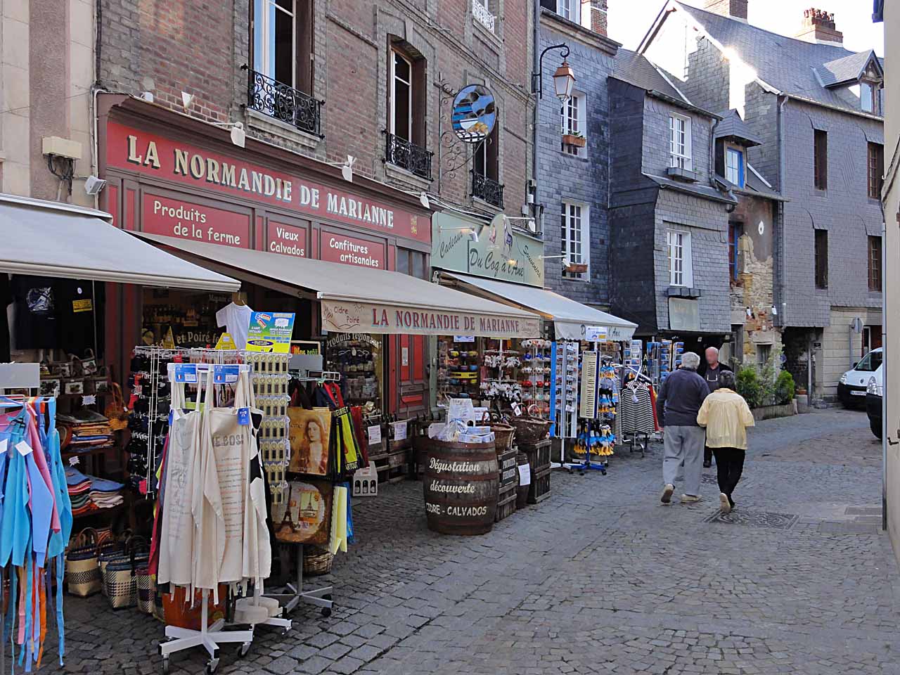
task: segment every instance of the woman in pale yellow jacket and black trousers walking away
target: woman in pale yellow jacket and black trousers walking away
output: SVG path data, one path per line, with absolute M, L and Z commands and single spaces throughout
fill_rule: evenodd
M 718 384 L 718 389 L 703 401 L 697 423 L 707 429 L 707 446 L 716 454 L 722 512 L 731 513 L 734 509 L 732 494 L 741 480 L 747 454 L 747 428 L 752 427 L 754 421 L 747 401 L 734 391 L 734 373 L 720 374 Z

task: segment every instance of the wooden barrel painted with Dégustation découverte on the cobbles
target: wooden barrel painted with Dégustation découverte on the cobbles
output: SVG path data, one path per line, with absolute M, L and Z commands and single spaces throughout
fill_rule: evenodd
M 499 478 L 494 444 L 430 439 L 423 481 L 428 528 L 443 535 L 490 532 Z

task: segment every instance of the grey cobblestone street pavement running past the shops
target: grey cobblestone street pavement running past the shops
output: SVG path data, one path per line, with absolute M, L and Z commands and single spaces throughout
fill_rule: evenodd
M 551 499 L 486 536 L 435 535 L 419 482 L 384 488 L 358 500 L 357 544 L 320 578 L 333 616 L 299 608 L 288 635 L 257 629 L 246 658 L 223 648 L 219 671 L 900 673 L 900 574 L 865 415 L 763 422 L 751 444 L 728 518 L 709 470 L 706 501 L 659 503 L 658 446 L 620 452 L 607 476 L 554 473 Z M 67 599 L 67 626 L 65 671 L 160 668 L 150 617 Z M 204 661 L 175 655 L 172 670 Z

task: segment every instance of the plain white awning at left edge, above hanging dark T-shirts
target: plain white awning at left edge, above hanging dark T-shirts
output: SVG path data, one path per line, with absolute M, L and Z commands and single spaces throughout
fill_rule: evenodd
M 171 256 L 109 213 L 0 194 L 0 273 L 231 293 L 240 282 Z

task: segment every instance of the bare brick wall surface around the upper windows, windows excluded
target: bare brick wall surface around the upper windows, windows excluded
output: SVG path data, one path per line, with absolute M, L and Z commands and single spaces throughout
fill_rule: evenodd
M 102 8 L 102 84 L 131 94 L 151 91 L 157 103 L 181 110 L 181 92 L 194 94 L 191 114 L 210 121 L 245 121 L 249 0 L 98 0 Z M 391 183 L 383 166 L 387 124 L 388 36 L 398 35 L 427 59 L 427 139 L 438 183 L 438 114 L 449 127 L 449 102 L 439 103 L 438 80 L 458 89 L 487 82 L 501 105 L 500 179 L 507 211 L 520 215 L 530 175 L 531 10 L 523 0 L 491 0 L 502 9 L 491 38 L 473 23 L 472 0 L 314 0 L 314 95 L 324 99 L 323 139 L 310 148 L 278 133 L 248 130 L 303 154 L 343 161 Z M 430 13 L 430 14 L 429 14 Z M 429 24 L 432 27 L 429 27 Z M 447 29 L 439 31 L 436 27 Z M 477 56 L 476 56 L 477 55 Z M 469 165 L 448 175 L 440 193 L 470 204 Z M 415 189 L 407 185 L 407 189 Z

